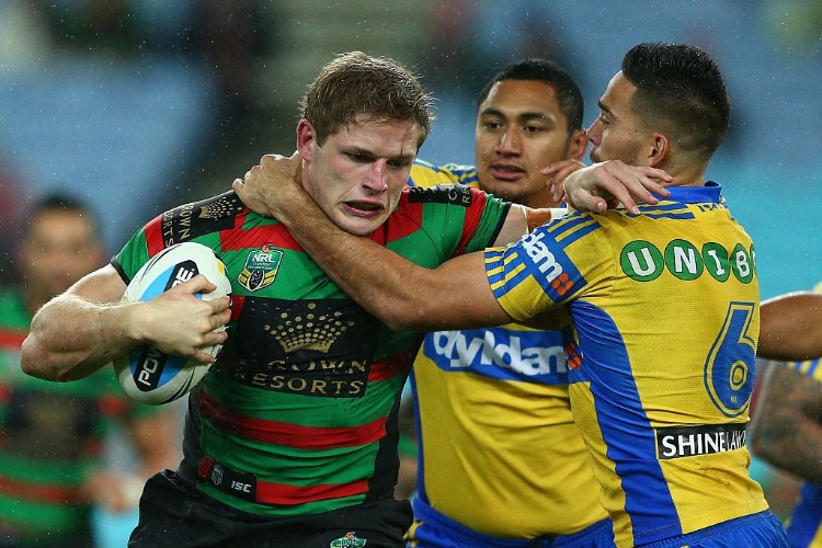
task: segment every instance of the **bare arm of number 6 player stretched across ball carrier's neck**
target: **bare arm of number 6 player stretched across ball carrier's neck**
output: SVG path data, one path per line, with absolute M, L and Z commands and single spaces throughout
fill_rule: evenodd
M 235 191 L 259 213 L 275 216 L 331 278 L 393 330 L 434 331 L 507 323 L 491 292 L 483 253 L 420 267 L 367 238 L 331 222 L 299 181 L 299 158 L 263 158 Z M 265 179 L 265 184 L 258 179 Z M 270 184 L 276 183 L 275 191 Z M 269 192 L 263 194 L 261 189 Z M 271 199 L 271 198 L 276 199 Z M 263 205 L 264 204 L 264 205 Z M 518 214 L 524 226 L 524 216 Z

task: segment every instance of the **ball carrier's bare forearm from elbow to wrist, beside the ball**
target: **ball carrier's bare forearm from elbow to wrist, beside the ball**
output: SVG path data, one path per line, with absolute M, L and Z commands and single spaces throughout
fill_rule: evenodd
M 46 380 L 87 377 L 137 346 L 124 306 L 100 305 L 65 295 L 46 304 L 23 342 L 23 372 Z

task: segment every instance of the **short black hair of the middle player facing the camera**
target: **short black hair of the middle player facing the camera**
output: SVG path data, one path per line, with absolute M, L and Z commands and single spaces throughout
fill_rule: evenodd
M 479 111 L 482 102 L 488 99 L 491 88 L 504 80 L 534 80 L 553 88 L 559 102 L 559 110 L 568 119 L 568 133 L 582 129 L 584 102 L 582 91 L 571 75 L 558 64 L 548 59 L 522 59 L 499 71 L 480 91 L 477 100 Z

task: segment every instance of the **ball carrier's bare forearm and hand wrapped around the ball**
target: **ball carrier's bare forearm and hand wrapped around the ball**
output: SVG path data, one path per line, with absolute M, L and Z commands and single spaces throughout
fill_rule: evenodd
M 119 302 L 125 289 L 114 267 L 106 265 L 44 305 L 23 342 L 23 372 L 47 380 L 75 380 L 146 343 L 209 363 L 212 356 L 199 346 L 227 336 L 212 331 L 228 322 L 229 298 L 194 297 L 216 289 L 203 275 L 148 302 Z

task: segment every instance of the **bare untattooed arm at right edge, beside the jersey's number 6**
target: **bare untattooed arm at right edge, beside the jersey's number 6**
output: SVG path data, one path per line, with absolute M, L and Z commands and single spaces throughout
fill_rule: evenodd
M 822 356 L 822 294 L 796 292 L 764 300 L 756 355 L 795 361 Z

